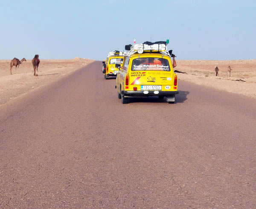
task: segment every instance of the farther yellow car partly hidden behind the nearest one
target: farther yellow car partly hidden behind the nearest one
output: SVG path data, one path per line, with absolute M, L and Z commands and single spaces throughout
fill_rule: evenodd
M 112 51 L 109 52 L 106 62 L 103 61 L 102 72 L 105 79 L 108 79 L 110 76 L 115 76 L 119 72 L 119 68 L 116 68 L 115 65 L 119 64 L 122 66 L 124 60 L 125 52 Z

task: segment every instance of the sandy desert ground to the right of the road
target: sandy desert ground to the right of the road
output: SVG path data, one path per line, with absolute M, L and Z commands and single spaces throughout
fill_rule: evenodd
M 215 67 L 218 66 L 218 77 Z M 227 67 L 230 66 L 231 77 Z M 256 99 L 256 60 L 177 60 L 178 79 Z

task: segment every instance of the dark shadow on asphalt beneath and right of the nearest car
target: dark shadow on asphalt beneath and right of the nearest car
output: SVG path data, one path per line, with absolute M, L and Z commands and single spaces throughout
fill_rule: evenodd
M 183 103 L 187 100 L 189 92 L 179 91 L 179 94 L 175 96 L 175 103 Z M 145 98 L 129 98 L 129 103 L 167 103 L 166 97 L 159 99 L 157 96 L 145 97 Z

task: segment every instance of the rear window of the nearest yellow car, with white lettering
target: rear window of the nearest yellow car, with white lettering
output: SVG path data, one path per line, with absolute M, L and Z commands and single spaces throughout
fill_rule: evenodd
M 170 71 L 168 60 L 155 57 L 141 57 L 134 59 L 131 66 L 132 71 Z

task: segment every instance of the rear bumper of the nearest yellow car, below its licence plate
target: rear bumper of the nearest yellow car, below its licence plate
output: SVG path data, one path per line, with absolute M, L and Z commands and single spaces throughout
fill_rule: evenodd
M 157 93 L 158 92 L 158 93 Z M 173 96 L 175 94 L 178 94 L 178 91 L 122 91 L 121 94 L 123 94 L 125 97 L 148 97 L 148 96 Z

